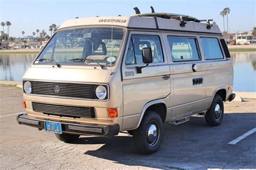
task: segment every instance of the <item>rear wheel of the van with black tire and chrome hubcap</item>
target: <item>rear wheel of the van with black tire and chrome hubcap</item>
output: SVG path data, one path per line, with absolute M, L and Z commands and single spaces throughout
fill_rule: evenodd
M 215 110 L 216 109 L 216 110 Z M 218 126 L 224 116 L 224 104 L 220 95 L 215 95 L 211 107 L 207 110 L 205 121 L 209 126 Z

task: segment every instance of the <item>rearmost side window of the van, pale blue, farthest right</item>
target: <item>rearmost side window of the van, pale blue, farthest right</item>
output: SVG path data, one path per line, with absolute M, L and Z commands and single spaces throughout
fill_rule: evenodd
M 200 38 L 205 59 L 223 59 L 223 53 L 217 38 Z

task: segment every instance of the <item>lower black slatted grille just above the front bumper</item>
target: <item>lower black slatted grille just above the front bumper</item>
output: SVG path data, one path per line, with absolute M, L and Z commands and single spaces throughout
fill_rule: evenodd
M 49 103 L 32 102 L 33 111 L 43 112 L 45 115 L 55 115 L 60 117 L 90 117 L 95 118 L 93 107 L 78 107 L 73 105 L 59 105 Z

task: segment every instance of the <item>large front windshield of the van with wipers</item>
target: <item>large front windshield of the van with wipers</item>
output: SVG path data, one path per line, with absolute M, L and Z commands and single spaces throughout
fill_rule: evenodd
M 57 32 L 35 61 L 36 65 L 114 65 L 124 31 L 111 28 L 84 28 Z M 112 41 L 111 41 L 112 38 Z

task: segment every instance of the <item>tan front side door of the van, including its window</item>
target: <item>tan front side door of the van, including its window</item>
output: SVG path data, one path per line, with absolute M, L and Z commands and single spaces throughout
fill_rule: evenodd
M 143 32 L 145 33 L 145 32 Z M 170 66 L 161 44 L 160 33 L 131 32 L 122 65 L 124 122 L 122 129 L 136 127 L 146 103 L 170 95 Z M 152 63 L 138 73 L 136 67 L 145 65 L 142 49 L 151 48 Z M 170 101 L 167 105 L 170 104 Z

